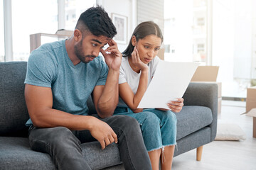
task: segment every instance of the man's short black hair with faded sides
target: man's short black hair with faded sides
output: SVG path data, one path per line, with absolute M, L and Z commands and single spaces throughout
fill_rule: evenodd
M 93 35 L 104 35 L 107 38 L 113 38 L 117 34 L 114 24 L 101 6 L 88 8 L 81 13 L 75 29 L 80 30 L 82 35 L 85 30 L 89 30 Z

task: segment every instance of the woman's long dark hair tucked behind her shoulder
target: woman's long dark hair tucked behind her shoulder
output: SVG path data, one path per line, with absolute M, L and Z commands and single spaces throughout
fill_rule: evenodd
M 161 42 L 163 42 L 164 40 L 159 26 L 157 26 L 157 24 L 152 21 L 146 21 L 146 22 L 140 23 L 134 29 L 132 36 L 133 35 L 136 37 L 137 42 L 145 38 L 147 35 L 156 35 L 157 37 L 161 38 Z M 131 38 L 127 49 L 125 49 L 124 52 L 122 52 L 123 57 L 129 57 L 130 55 L 132 55 L 133 50 L 134 50 L 134 46 L 132 45 L 132 38 Z

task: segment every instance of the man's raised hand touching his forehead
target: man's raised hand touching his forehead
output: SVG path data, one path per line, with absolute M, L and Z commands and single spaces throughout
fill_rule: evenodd
M 101 49 L 100 52 L 105 57 L 105 62 L 108 67 L 114 70 L 119 70 L 122 60 L 122 53 L 119 52 L 117 42 L 114 42 L 114 40 L 110 40 L 108 45 L 110 45 L 110 47 L 107 47 L 106 50 Z

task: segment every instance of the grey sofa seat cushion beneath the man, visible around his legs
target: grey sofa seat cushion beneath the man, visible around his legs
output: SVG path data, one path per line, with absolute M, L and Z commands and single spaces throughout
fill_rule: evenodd
M 99 142 L 81 145 L 92 169 L 122 164 L 116 144 L 101 149 Z M 26 137 L 0 137 L 0 169 L 55 169 L 49 154 L 31 150 Z

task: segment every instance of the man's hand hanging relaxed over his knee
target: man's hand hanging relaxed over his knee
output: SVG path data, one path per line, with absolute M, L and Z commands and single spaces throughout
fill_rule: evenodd
M 110 125 L 107 125 L 107 123 L 97 118 L 93 119 L 90 133 L 92 137 L 100 142 L 102 149 L 105 149 L 105 147 L 110 145 L 112 142 L 118 142 L 117 135 L 115 134 L 114 130 L 112 130 Z

